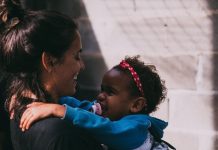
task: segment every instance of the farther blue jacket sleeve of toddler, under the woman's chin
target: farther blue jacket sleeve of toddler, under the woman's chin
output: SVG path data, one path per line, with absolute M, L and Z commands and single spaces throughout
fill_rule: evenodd
M 65 96 L 59 99 L 59 104 L 67 104 L 73 108 L 81 108 L 85 110 L 90 110 L 95 101 L 90 102 L 88 100 L 80 101 L 74 97 Z

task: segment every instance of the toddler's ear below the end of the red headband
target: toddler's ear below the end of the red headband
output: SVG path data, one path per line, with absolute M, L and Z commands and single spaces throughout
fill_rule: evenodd
M 130 107 L 131 113 L 140 112 L 143 108 L 147 106 L 146 99 L 144 97 L 139 97 L 134 100 L 132 106 Z

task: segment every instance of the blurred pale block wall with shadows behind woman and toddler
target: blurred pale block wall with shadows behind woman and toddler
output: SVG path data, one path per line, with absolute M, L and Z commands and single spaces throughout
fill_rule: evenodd
M 126 55 L 141 55 L 157 66 L 168 87 L 168 98 L 152 114 L 169 122 L 164 139 L 178 150 L 218 150 L 217 0 L 22 0 L 22 5 L 78 21 L 86 69 L 76 97 L 94 99 L 108 68 Z M 1 96 L 0 150 L 12 150 Z

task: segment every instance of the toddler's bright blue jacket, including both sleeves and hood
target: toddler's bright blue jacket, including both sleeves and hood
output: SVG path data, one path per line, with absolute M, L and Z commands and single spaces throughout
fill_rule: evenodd
M 73 97 L 62 97 L 65 104 L 64 119 L 89 131 L 99 142 L 113 149 L 130 150 L 139 147 L 147 138 L 148 131 L 158 139 L 163 137 L 167 122 L 149 115 L 127 115 L 118 121 L 110 121 L 89 112 L 93 102 L 79 101 Z M 87 111 L 88 110 L 88 111 Z

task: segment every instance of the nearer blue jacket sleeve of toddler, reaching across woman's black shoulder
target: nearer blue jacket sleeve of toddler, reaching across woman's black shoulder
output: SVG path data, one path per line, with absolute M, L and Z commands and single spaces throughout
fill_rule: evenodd
M 139 147 L 146 139 L 151 123 L 145 115 L 129 115 L 118 121 L 66 105 L 65 119 L 86 129 L 96 140 L 110 148 L 128 150 Z

